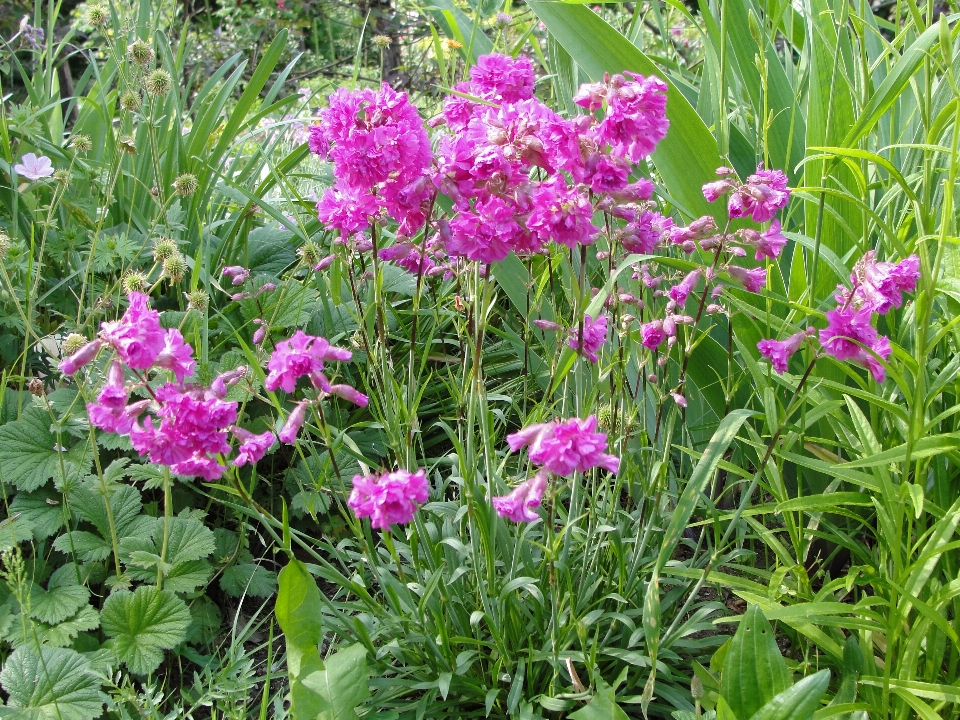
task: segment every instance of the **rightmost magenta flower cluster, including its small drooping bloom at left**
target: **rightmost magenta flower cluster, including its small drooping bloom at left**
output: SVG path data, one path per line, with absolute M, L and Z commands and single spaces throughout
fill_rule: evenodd
M 913 292 L 919 278 L 920 259 L 916 255 L 891 263 L 878 262 L 873 250 L 865 253 L 850 275 L 851 287 L 837 288 L 837 307 L 827 312 L 827 326 L 819 332 L 823 351 L 837 360 L 866 368 L 874 380 L 883 382 L 886 369 L 880 361 L 889 359 L 892 348 L 890 338 L 880 335 L 874 327 L 874 313 L 885 315 L 900 307 L 903 294 Z M 757 347 L 773 369 L 782 374 L 804 339 L 815 333 L 808 328 L 786 340 L 761 340 Z

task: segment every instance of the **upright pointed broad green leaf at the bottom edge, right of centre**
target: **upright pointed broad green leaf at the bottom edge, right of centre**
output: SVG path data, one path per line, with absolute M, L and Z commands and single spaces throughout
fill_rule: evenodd
M 790 672 L 773 628 L 759 606 L 751 605 L 727 651 L 720 695 L 738 718 L 749 718 L 789 686 Z

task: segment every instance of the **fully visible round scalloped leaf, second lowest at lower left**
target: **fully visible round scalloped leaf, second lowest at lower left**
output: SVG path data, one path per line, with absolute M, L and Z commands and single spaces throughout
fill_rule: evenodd
M 113 651 L 137 675 L 156 670 L 169 650 L 187 636 L 190 610 L 170 590 L 151 586 L 117 590 L 103 604 L 101 624 L 114 638 Z

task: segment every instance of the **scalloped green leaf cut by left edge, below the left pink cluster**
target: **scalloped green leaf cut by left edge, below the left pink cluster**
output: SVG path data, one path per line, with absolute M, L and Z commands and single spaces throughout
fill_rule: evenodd
M 20 490 L 36 490 L 58 469 L 57 447 L 50 416 L 40 408 L 27 408 L 19 420 L 0 426 L 0 477 Z

